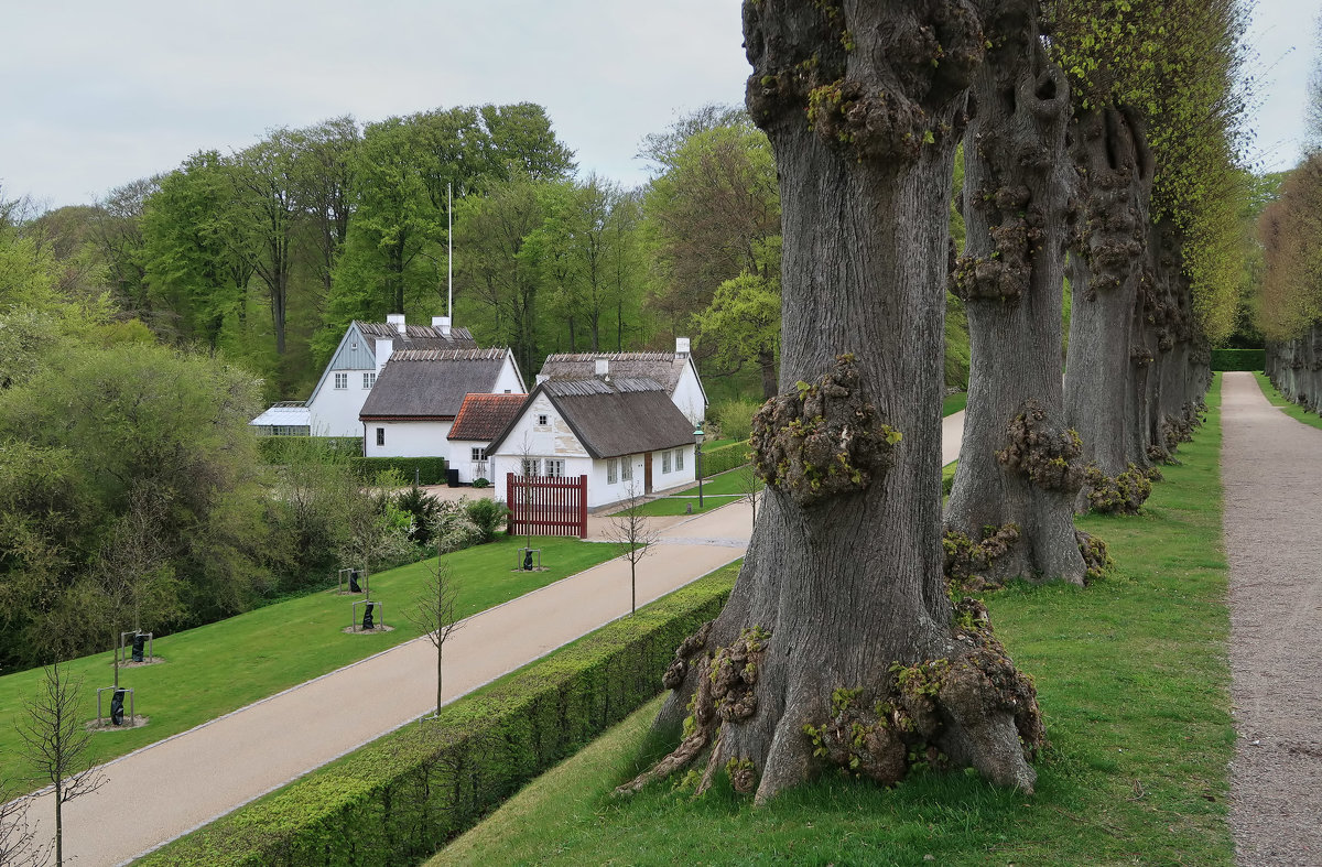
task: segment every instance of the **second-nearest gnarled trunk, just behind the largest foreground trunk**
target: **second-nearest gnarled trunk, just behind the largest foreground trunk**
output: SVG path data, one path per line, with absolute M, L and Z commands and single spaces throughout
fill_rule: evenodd
M 985 28 L 993 49 L 964 136 L 968 239 L 952 291 L 968 315 L 972 365 L 945 523 L 972 542 L 984 527 L 1018 527 L 1018 541 L 982 576 L 993 583 L 1081 584 L 1073 498 L 1083 468 L 1064 424 L 1060 370 L 1069 90 L 1046 57 L 1036 7 L 1006 0 Z

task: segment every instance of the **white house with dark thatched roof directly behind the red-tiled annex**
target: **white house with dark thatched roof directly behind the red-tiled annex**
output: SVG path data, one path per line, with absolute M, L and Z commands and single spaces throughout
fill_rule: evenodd
M 508 349 L 395 352 L 358 414 L 364 453 L 448 459 L 447 436 L 465 395 L 525 391 Z

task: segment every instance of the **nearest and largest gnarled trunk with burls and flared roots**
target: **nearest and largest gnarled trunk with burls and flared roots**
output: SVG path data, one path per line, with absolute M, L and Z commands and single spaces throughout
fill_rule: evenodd
M 830 765 L 894 782 L 923 741 L 1031 789 L 1031 683 L 941 575 L 947 209 L 977 9 L 748 0 L 744 33 L 784 229 L 765 504 L 730 603 L 668 675 L 658 723 L 690 715 L 686 736 L 635 782 L 705 756 L 699 788 L 724 768 L 764 801 Z

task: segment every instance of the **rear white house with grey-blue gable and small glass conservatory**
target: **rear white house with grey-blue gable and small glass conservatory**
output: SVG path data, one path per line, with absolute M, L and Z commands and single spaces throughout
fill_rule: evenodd
M 275 426 L 267 416 L 271 410 L 249 424 L 259 430 L 307 426 L 312 436 L 362 436 L 358 422 L 362 403 L 371 394 L 391 353 L 399 349 L 477 349 L 477 341 L 467 328 L 451 328 L 448 316 L 434 316 L 431 325 L 407 325 L 403 313 L 390 313 L 385 322 L 353 321 L 321 371 L 312 395 L 304 402 L 307 415 L 301 416 L 301 424 Z M 278 403 L 272 410 L 295 406 Z

